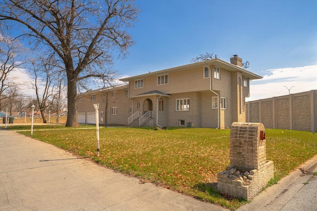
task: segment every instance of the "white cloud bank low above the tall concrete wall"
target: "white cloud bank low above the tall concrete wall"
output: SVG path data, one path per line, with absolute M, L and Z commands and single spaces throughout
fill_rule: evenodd
M 288 89 L 291 94 L 317 89 L 317 65 L 265 72 L 263 79 L 250 82 L 250 97 L 246 101 L 287 95 Z

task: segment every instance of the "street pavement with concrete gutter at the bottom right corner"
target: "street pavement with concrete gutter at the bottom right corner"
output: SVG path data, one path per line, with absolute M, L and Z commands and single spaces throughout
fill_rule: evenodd
M 237 211 L 317 211 L 317 155 Z

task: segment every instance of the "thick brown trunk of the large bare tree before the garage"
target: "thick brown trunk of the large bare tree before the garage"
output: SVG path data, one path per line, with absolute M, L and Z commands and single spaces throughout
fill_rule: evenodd
M 77 83 L 76 78 L 67 77 L 67 121 L 66 127 L 79 127 L 77 115 Z

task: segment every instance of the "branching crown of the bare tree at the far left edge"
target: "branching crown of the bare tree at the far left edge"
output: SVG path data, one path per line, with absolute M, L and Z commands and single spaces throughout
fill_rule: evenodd
M 12 42 L 10 38 L 0 35 L 0 110 L 2 110 L 2 106 L 8 106 L 3 105 L 3 100 L 10 98 L 8 94 L 10 87 L 19 88 L 14 82 L 14 78 L 9 75 L 13 71 L 19 71 L 18 68 L 24 64 L 21 60 L 17 61 L 22 50 L 23 48 L 18 42 Z

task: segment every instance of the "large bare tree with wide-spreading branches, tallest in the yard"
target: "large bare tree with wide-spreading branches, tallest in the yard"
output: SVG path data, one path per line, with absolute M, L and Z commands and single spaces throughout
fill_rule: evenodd
M 134 44 L 126 28 L 132 27 L 139 9 L 134 0 L 3 0 L 0 27 L 18 24 L 19 38 L 50 51 L 60 61 L 67 78 L 66 127 L 77 127 L 77 84 L 88 78 L 109 83 L 116 72 L 113 54 L 125 55 Z

